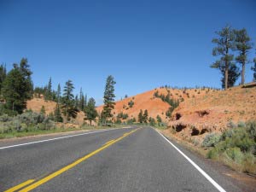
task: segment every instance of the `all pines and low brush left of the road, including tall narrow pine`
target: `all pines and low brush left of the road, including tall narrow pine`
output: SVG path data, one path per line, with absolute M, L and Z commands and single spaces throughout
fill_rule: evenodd
M 82 88 L 79 95 L 74 95 L 73 81 L 68 79 L 61 90 L 52 87 L 52 79 L 44 87 L 35 86 L 32 82 L 32 71 L 26 58 L 15 63 L 8 72 L 5 65 L 0 66 L 0 138 L 23 137 L 28 135 L 55 131 L 73 131 L 106 127 L 108 119 L 113 117 L 114 87 L 113 76 L 108 76 L 104 91 L 104 110 L 96 111 L 93 97 L 87 101 L 87 94 Z M 55 109 L 47 112 L 42 106 L 40 112 L 26 108 L 27 101 L 32 98 L 55 102 Z M 133 103 L 130 103 L 133 105 Z M 75 123 L 78 113 L 84 115 L 83 125 Z M 100 120 L 99 120 L 100 119 Z M 101 122 L 99 125 L 96 121 Z M 95 122 L 93 124 L 93 122 Z M 93 126 L 92 126 L 93 125 Z M 115 126 L 116 125 L 111 125 Z

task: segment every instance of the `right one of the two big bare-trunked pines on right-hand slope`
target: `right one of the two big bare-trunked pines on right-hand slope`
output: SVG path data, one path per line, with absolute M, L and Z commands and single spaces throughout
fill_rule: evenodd
M 241 84 L 245 83 L 245 67 L 249 62 L 247 59 L 247 53 L 253 48 L 251 38 L 247 34 L 245 28 L 241 30 L 235 30 L 236 34 L 236 50 L 239 51 L 239 55 L 236 56 L 236 61 L 241 64 Z

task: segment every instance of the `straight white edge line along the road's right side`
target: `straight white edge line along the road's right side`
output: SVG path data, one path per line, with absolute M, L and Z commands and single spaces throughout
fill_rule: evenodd
M 154 131 L 157 131 L 157 130 L 154 130 Z M 218 189 L 218 191 L 220 191 L 220 192 L 226 192 L 225 189 L 223 189 L 218 183 L 216 183 L 216 182 L 212 179 L 212 177 L 210 177 L 205 171 L 203 171 L 203 170 L 200 168 L 200 166 L 197 166 L 193 160 L 191 160 L 186 154 L 183 154 L 183 152 L 182 152 L 179 148 L 177 148 L 172 142 L 170 142 L 166 137 L 164 137 L 163 134 L 160 133 L 160 131 L 157 131 L 157 132 L 160 134 L 161 137 L 163 137 L 163 138 L 166 140 L 166 142 L 170 143 L 173 148 L 175 148 L 180 154 L 182 154 L 183 157 L 184 157 L 186 160 L 188 160 L 189 163 L 192 164 L 192 166 L 195 166 L 195 169 L 197 169 L 198 172 L 201 172 L 201 174 L 202 174 L 204 177 L 206 177 L 207 180 L 208 180 L 210 183 L 212 183 L 212 185 L 213 185 L 216 189 Z

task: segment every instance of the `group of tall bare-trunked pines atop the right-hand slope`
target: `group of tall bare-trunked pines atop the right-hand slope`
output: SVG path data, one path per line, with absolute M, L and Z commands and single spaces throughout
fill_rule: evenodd
M 218 68 L 222 74 L 222 87 L 227 90 L 234 86 L 236 80 L 241 76 L 241 84 L 245 84 L 246 65 L 252 61 L 248 53 L 253 49 L 252 38 L 245 28 L 241 30 L 225 26 L 216 32 L 218 38 L 213 38 L 212 43 L 216 47 L 212 49 L 212 55 L 218 56 L 211 67 Z M 253 81 L 256 81 L 256 57 L 253 60 Z M 241 66 L 241 69 L 240 69 Z

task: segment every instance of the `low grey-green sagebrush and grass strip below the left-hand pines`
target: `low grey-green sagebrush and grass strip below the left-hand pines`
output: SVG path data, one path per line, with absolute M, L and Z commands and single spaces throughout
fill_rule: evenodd
M 114 127 L 119 127 L 119 125 L 114 125 Z M 105 128 L 106 126 L 91 126 L 88 124 L 71 124 L 67 126 L 66 124 L 55 122 L 49 115 L 35 113 L 31 110 L 15 116 L 7 114 L 0 116 L 0 139 Z

